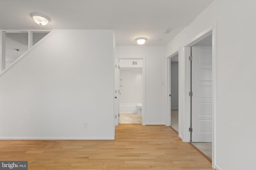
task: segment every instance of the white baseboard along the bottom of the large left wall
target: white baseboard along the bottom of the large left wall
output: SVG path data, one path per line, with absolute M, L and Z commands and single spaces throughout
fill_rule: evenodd
M 114 137 L 0 137 L 0 140 L 114 140 Z

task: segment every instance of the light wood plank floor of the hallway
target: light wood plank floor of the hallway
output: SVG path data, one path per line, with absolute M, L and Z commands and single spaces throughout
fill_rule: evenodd
M 0 160 L 28 160 L 29 170 L 212 170 L 164 125 L 121 124 L 115 141 L 0 141 Z

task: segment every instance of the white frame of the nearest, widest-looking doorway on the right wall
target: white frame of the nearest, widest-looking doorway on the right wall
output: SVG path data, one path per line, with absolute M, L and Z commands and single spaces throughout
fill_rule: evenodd
M 184 142 L 190 142 L 190 47 L 212 34 L 212 167 L 215 167 L 216 162 L 216 98 L 217 98 L 217 24 L 209 27 L 205 31 L 192 38 L 186 45 L 182 47 L 182 58 L 184 59 L 184 87 L 182 103 L 183 109 L 183 139 Z

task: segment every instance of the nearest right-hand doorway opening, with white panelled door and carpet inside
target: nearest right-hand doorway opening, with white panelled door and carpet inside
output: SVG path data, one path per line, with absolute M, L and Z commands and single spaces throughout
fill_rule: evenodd
M 212 160 L 212 34 L 190 47 L 191 144 Z

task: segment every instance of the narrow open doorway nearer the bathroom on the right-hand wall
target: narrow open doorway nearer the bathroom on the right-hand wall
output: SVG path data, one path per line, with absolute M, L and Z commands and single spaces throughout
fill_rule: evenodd
M 171 88 L 171 127 L 179 132 L 179 56 L 174 55 L 170 59 L 170 88 Z

